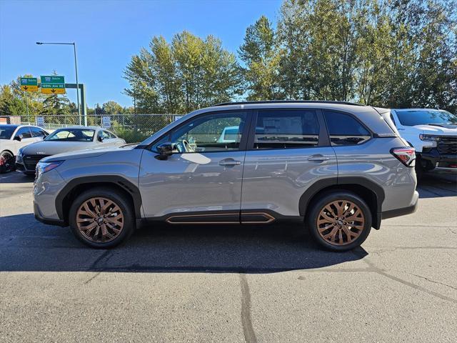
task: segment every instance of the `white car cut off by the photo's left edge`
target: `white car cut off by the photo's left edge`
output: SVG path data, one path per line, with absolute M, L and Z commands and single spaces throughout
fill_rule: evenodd
M 14 160 L 23 146 L 42 141 L 48 132 L 38 126 L 0 125 L 0 172 L 14 169 Z

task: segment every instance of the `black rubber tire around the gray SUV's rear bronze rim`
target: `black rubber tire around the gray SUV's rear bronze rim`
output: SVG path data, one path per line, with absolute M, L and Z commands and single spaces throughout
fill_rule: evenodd
M 360 232 L 358 233 L 358 237 L 354 238 L 352 242 L 347 242 L 347 244 L 343 245 L 337 245 L 336 243 L 331 243 L 328 240 L 324 239 L 323 236 L 319 233 L 318 229 L 318 218 L 321 216 L 321 211 L 323 211 L 324 207 L 326 207 L 328 204 L 331 204 L 332 202 L 351 202 L 360 209 L 361 213 L 363 214 L 363 225 L 360 225 L 363 227 L 363 229 L 358 230 L 356 229 L 355 232 Z M 341 203 L 342 204 L 342 203 Z M 348 214 L 349 216 L 349 214 Z M 343 217 L 341 217 L 343 218 Z M 344 219 L 346 220 L 346 219 Z M 309 229 L 309 232 L 311 233 L 311 236 L 313 239 L 323 248 L 331 250 L 333 252 L 346 252 L 348 250 L 354 249 L 356 247 L 359 247 L 368 237 L 368 234 L 370 234 L 371 230 L 371 211 L 368 208 L 366 202 L 361 199 L 361 197 L 358 197 L 356 194 L 353 194 L 351 192 L 346 192 L 346 191 L 333 191 L 333 192 L 328 192 L 322 194 L 321 197 L 318 197 L 316 199 L 316 202 L 311 204 L 311 207 L 309 208 L 307 214 L 306 214 L 306 226 Z M 329 222 L 330 223 L 330 222 Z M 326 226 L 327 224 L 322 224 L 323 226 Z M 323 232 L 328 234 L 328 232 L 331 232 L 331 230 L 336 229 L 336 232 L 344 232 L 343 229 L 338 229 L 343 227 L 338 226 L 338 224 L 331 224 L 331 225 L 336 225 L 336 227 L 330 227 L 330 224 L 327 226 L 329 227 L 327 231 Z M 339 230 L 339 231 L 338 231 Z M 353 230 L 353 229 L 351 229 Z M 343 239 L 346 237 L 346 240 L 348 240 L 348 236 L 351 237 L 352 234 L 355 234 L 354 232 L 351 232 L 349 235 L 346 233 L 343 234 Z M 323 234 L 324 235 L 324 234 Z M 336 237 L 336 234 L 333 234 L 333 237 Z M 352 239 L 352 237 L 351 237 Z

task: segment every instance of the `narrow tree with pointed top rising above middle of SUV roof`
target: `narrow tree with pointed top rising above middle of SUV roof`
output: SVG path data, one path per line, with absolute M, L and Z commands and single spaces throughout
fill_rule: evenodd
M 243 44 L 238 51 L 247 84 L 248 100 L 281 99 L 278 67 L 280 54 L 270 21 L 261 16 L 248 26 Z

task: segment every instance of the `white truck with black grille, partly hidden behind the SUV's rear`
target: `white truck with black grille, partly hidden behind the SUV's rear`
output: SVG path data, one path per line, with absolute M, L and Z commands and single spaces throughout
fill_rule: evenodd
M 441 109 L 392 109 L 403 139 L 416 149 L 416 170 L 457 172 L 457 116 Z

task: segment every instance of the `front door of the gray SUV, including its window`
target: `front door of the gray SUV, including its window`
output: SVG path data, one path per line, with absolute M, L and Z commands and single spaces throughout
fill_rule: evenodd
M 246 122 L 246 111 L 200 114 L 146 149 L 139 173 L 145 216 L 176 224 L 238 223 Z M 221 142 L 228 126 L 238 126 L 238 132 Z M 157 146 L 165 141 L 174 153 L 161 159 Z

